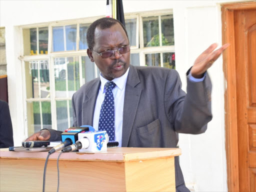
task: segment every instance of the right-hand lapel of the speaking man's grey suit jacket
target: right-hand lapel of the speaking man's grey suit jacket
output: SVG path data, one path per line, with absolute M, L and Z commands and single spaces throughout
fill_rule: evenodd
M 123 121 L 122 121 L 122 146 L 128 145 L 131 128 L 135 119 L 141 87 L 138 85 L 140 82 L 137 70 L 134 66 L 130 65 L 129 74 L 125 86 L 125 96 L 123 103 Z

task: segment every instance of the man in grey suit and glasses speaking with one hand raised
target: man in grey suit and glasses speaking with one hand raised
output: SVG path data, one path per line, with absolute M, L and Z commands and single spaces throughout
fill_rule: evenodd
M 93 125 L 111 135 L 110 125 L 102 128 L 102 123 L 108 122 L 102 120 L 108 95 L 114 102 L 114 121 L 109 121 L 114 123 L 113 138 L 119 146 L 176 147 L 178 132 L 198 134 L 206 130 L 212 117 L 211 83 L 206 70 L 227 44 L 215 51 L 217 45 L 212 44 L 195 60 L 187 72 L 185 94 L 175 70 L 130 65 L 127 32 L 117 20 L 105 17 L 94 21 L 88 28 L 87 42 L 87 54 L 101 73 L 74 93 L 74 126 Z M 109 81 L 114 82 L 110 91 L 108 85 L 104 87 Z M 60 133 L 43 129 L 26 140 L 60 140 Z M 175 179 L 176 191 L 189 191 L 177 158 Z

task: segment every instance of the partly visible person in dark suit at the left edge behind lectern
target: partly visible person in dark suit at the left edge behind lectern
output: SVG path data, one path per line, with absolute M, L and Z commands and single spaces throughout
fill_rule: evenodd
M 0 100 L 0 148 L 13 146 L 12 125 L 8 103 Z

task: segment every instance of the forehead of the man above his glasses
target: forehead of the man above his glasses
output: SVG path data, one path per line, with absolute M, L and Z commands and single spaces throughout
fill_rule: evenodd
M 121 25 L 116 23 L 105 29 L 96 27 L 94 32 L 94 42 L 95 44 L 93 48 L 104 49 L 128 43 L 128 38 Z

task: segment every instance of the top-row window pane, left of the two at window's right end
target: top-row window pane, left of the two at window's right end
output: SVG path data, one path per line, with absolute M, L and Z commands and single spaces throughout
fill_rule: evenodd
M 144 47 L 159 46 L 158 16 L 143 17 L 142 22 Z

